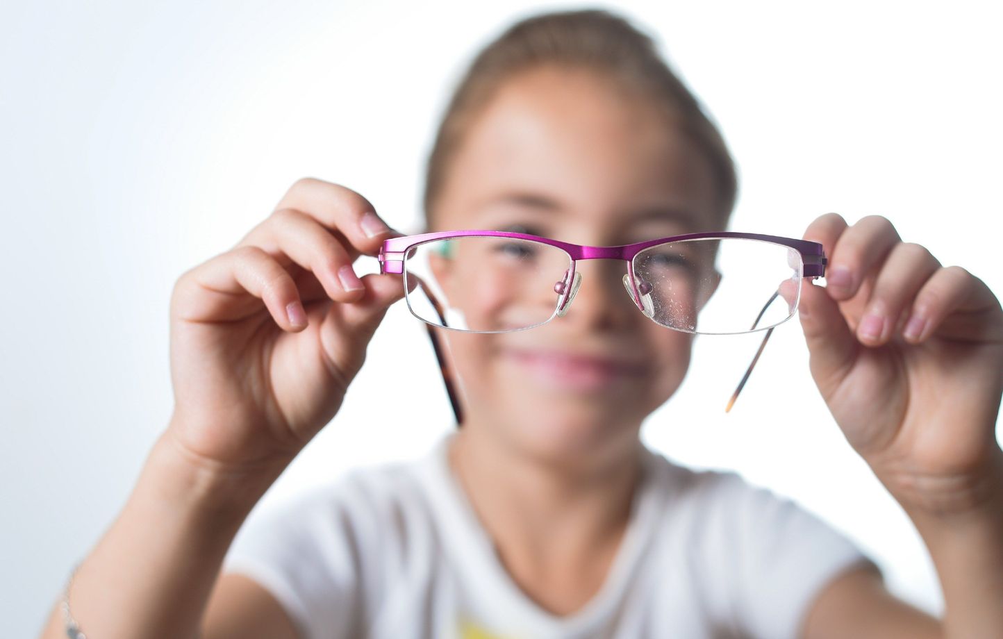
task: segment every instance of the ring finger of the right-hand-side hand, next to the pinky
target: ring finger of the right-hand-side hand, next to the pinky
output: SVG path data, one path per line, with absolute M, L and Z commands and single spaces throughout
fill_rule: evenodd
M 871 346 L 884 344 L 901 329 L 904 312 L 940 262 L 919 244 L 900 242 L 881 267 L 867 310 L 857 326 L 858 338 Z

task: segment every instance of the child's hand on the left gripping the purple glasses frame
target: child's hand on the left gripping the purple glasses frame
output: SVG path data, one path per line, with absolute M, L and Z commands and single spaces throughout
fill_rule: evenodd
M 164 434 L 214 469 L 284 467 L 337 412 L 403 297 L 399 275 L 360 283 L 350 266 L 398 235 L 359 194 L 307 178 L 237 246 L 183 274 L 171 299 Z

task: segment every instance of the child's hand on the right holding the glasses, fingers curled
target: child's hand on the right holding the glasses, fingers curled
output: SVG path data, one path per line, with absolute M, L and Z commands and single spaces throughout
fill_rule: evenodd
M 828 256 L 826 287 L 803 282 L 799 314 L 835 421 L 900 502 L 964 509 L 1003 458 L 999 300 L 968 271 L 903 243 L 882 217 L 848 227 L 823 215 L 804 239 Z

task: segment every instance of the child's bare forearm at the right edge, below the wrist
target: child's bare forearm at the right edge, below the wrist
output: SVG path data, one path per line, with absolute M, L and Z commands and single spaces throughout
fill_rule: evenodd
M 959 508 L 904 507 L 940 578 L 945 638 L 1003 637 L 1003 462 L 967 493 Z

